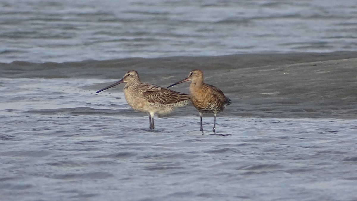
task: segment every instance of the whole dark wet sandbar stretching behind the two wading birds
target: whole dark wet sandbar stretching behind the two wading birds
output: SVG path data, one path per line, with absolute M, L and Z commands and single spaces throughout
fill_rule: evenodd
M 202 69 L 233 104 L 222 116 L 355 119 L 357 52 L 245 54 L 216 57 L 129 58 L 34 64 L 0 64 L 6 78 L 121 79 L 131 69 L 141 80 L 168 86 Z M 102 84 L 91 86 L 99 89 Z M 188 84 L 173 89 L 188 92 Z

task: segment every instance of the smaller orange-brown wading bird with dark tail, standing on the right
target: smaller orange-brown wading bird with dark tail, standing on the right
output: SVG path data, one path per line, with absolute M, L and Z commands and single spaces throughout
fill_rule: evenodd
M 168 87 L 180 84 L 191 80 L 190 96 L 193 106 L 200 112 L 200 131 L 202 129 L 202 113 L 213 113 L 215 121 L 212 131 L 216 132 L 216 115 L 223 111 L 226 105 L 231 104 L 231 99 L 223 94 L 223 92 L 213 85 L 203 83 L 203 72 L 201 70 L 193 70 L 188 74 L 188 77 L 172 84 Z

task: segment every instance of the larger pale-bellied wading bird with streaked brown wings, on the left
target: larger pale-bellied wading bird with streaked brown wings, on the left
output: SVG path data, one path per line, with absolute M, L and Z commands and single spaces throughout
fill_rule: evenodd
M 137 71 L 127 72 L 123 79 L 97 91 L 99 93 L 110 87 L 125 82 L 124 95 L 126 102 L 134 110 L 146 112 L 149 116 L 150 129 L 154 129 L 154 115 L 166 115 L 176 107 L 190 102 L 190 95 L 163 88 L 161 86 L 140 82 Z

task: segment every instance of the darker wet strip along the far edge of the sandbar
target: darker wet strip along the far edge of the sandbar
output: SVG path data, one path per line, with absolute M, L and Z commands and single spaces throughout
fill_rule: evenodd
M 151 75 L 150 77 L 156 79 L 157 74 L 170 76 L 197 68 L 209 72 L 211 70 L 231 70 L 351 58 L 357 58 L 357 51 L 338 51 L 330 53 L 237 54 L 200 57 L 177 56 L 151 59 L 133 57 L 117 60 L 85 60 L 64 63 L 13 61 L 11 63 L 0 62 L 0 73 L 2 77 L 7 78 L 88 77 L 116 79 L 122 76 L 126 71 L 135 69 L 139 71 L 140 75 Z

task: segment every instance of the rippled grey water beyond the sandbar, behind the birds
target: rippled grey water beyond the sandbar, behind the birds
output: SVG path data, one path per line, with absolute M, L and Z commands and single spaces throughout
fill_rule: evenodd
M 0 62 L 357 50 L 355 0 L 0 0 Z

